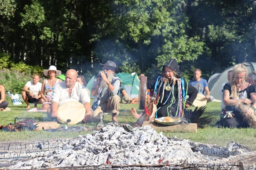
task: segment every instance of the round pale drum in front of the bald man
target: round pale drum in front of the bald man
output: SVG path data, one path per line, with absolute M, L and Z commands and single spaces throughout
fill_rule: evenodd
M 58 108 L 57 113 L 58 122 L 75 125 L 84 119 L 85 108 L 80 102 L 66 102 Z

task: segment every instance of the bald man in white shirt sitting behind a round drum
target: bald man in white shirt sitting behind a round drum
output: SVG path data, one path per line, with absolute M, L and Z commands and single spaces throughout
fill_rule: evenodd
M 47 111 L 49 117 L 55 118 L 58 116 L 58 107 L 66 102 L 76 101 L 81 102 L 86 110 L 84 122 L 90 121 L 92 114 L 90 107 L 90 97 L 84 85 L 76 82 L 77 72 L 74 69 L 67 71 L 65 81 L 58 83 L 52 94 L 52 105 Z M 70 113 L 72 114 L 72 113 Z

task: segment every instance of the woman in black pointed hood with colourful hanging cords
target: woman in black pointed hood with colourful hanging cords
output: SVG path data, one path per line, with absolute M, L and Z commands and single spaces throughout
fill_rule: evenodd
M 165 116 L 183 116 L 183 109 L 194 102 L 198 91 L 182 78 L 176 58 L 163 66 L 163 74 L 156 80 L 148 80 L 147 88 L 154 89 L 156 99 L 148 105 L 149 113 L 137 114 L 134 108 L 131 113 L 137 118 L 137 124 Z M 142 74 L 143 75 L 143 74 Z M 144 75 L 143 75 L 144 76 Z M 189 99 L 186 99 L 186 96 Z M 185 101 L 185 104 L 183 104 Z

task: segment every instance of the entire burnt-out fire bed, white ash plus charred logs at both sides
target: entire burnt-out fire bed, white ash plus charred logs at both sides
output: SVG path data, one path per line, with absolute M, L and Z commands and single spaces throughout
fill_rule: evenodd
M 31 144 L 31 143 L 30 143 Z M 168 139 L 149 126 L 130 128 L 109 123 L 99 131 L 72 140 L 34 142 L 30 153 L 0 149 L 2 168 L 31 169 L 95 165 L 226 164 L 254 155 L 235 142 L 229 147 Z M 27 144 L 29 146 L 29 144 Z M 4 154 L 3 154 L 4 153 Z M 33 154 L 35 153 L 35 154 Z M 250 154 L 249 154 L 250 153 Z M 0 166 L 1 166 L 0 164 Z M 13 164 L 13 165 L 12 165 Z M 5 167 L 3 167 L 5 165 Z M 250 164 L 254 168 L 255 164 Z

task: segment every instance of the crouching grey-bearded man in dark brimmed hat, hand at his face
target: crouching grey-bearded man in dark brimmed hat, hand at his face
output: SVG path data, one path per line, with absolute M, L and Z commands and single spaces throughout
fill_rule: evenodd
M 116 64 L 112 61 L 107 61 L 103 65 L 103 71 L 93 80 L 93 88 L 91 94 L 95 96 L 93 102 L 94 121 L 100 120 L 100 113 L 111 112 L 112 121 L 117 122 L 116 115 L 119 114 L 120 97 L 117 95 L 120 88 L 120 79 L 115 74 L 119 73 Z

